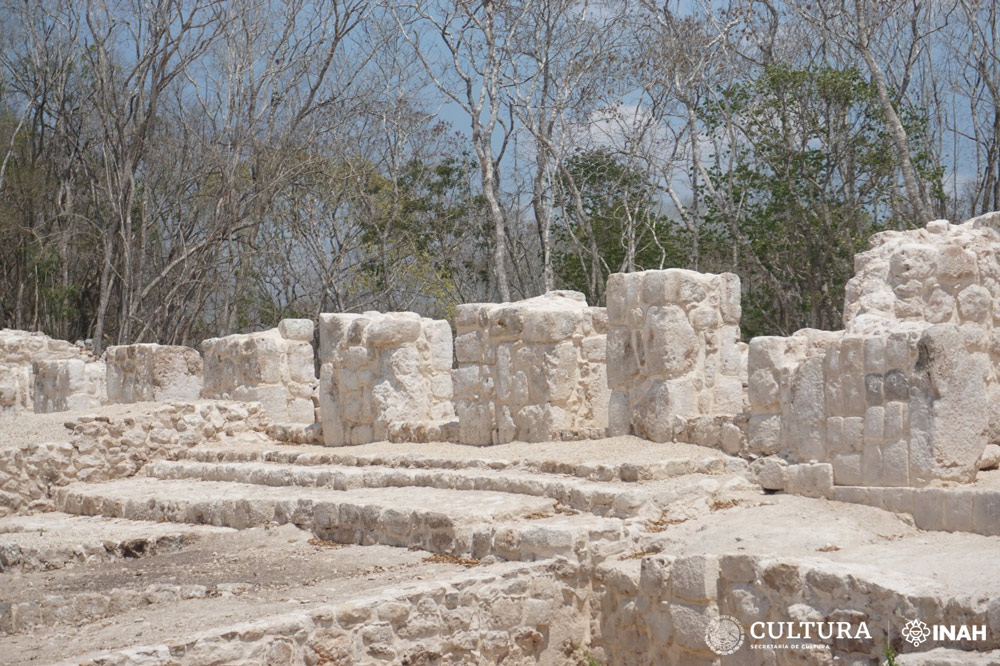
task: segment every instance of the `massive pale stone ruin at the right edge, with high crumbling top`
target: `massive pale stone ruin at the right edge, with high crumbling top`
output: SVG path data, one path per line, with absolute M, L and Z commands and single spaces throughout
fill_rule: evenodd
M 829 464 L 811 489 L 827 496 L 975 480 L 1000 439 L 997 218 L 876 234 L 855 258 L 844 331 L 752 340 L 745 454 L 814 476 Z

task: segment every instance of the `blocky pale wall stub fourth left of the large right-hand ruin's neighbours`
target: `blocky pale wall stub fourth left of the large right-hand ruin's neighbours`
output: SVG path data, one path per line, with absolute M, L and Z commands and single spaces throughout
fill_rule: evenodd
M 451 327 L 413 312 L 320 315 L 327 446 L 455 440 Z

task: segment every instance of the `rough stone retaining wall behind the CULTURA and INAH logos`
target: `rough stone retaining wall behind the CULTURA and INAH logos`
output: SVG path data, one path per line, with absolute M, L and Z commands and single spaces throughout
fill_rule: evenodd
M 759 557 L 742 554 L 655 554 L 641 561 L 610 561 L 597 567 L 591 655 L 606 664 L 715 664 L 705 642 L 708 623 L 730 615 L 750 631 L 755 622 L 849 622 L 853 635 L 796 648 L 756 651 L 757 659 L 734 663 L 875 664 L 881 663 L 886 627 L 936 609 L 941 624 L 986 625 L 987 640 L 978 650 L 1000 647 L 1000 615 L 968 597 L 907 593 L 872 576 L 846 573 L 841 565 L 821 560 Z M 863 600 L 863 601 L 862 601 Z M 861 605 L 864 612 L 854 610 Z M 992 609 L 991 609 L 992 610 Z M 857 639 L 865 622 L 871 638 Z M 815 637 L 815 634 L 814 634 Z M 747 641 L 750 641 L 748 635 Z M 778 640 L 775 643 L 789 641 Z M 805 641 L 809 643 L 810 641 Z M 958 642 L 927 641 L 921 649 Z M 747 654 L 744 646 L 740 653 Z M 737 654 L 740 654 L 737 653 Z M 754 653 L 750 653 L 753 655 Z M 727 661 L 722 660 L 725 664 Z

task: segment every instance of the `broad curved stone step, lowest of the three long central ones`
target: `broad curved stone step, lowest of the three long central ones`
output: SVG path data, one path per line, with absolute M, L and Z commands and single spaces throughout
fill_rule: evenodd
M 134 477 L 60 488 L 61 511 L 130 520 L 246 529 L 293 523 L 322 539 L 421 548 L 433 553 L 534 560 L 587 554 L 619 541 L 622 521 L 555 515 L 550 498 L 439 488 L 269 487 Z

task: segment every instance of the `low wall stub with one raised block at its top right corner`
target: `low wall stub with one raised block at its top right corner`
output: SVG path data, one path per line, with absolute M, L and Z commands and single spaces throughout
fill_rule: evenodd
M 202 397 L 260 402 L 276 423 L 315 421 L 313 322 L 283 319 L 261 333 L 209 338 Z

